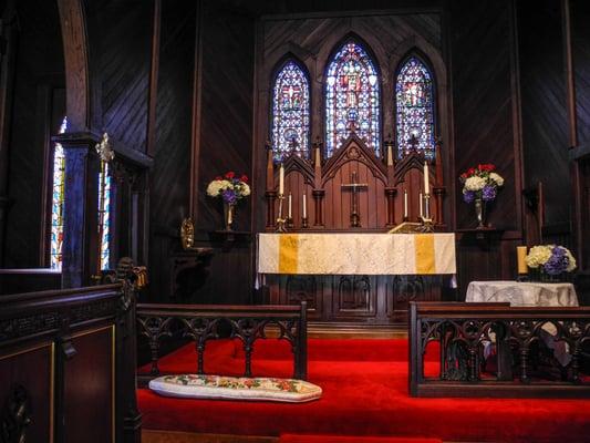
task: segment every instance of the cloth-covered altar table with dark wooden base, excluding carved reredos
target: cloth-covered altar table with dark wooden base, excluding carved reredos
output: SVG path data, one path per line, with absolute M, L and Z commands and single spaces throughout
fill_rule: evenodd
M 441 300 L 455 274 L 455 235 L 262 233 L 257 271 L 269 303 L 306 300 L 334 326 L 402 326 L 411 300 Z

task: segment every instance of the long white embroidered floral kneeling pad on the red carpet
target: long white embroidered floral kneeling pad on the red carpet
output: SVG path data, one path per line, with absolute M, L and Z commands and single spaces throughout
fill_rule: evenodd
M 189 399 L 268 400 L 300 403 L 319 399 L 322 389 L 302 380 L 221 375 L 163 375 L 149 389 L 166 396 Z

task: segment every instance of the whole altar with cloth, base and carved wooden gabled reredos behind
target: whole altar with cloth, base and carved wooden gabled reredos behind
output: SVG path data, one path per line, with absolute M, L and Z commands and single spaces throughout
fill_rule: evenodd
M 402 328 L 410 301 L 443 299 L 456 269 L 442 148 L 411 142 L 377 155 L 352 133 L 330 157 L 317 142 L 279 162 L 267 146 L 258 302 L 306 300 L 312 323 L 345 329 Z

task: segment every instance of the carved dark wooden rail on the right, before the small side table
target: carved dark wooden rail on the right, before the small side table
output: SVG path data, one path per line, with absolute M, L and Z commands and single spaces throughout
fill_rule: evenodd
M 590 308 L 414 301 L 408 328 L 412 396 L 590 398 L 582 373 Z M 433 341 L 441 347 L 437 377 L 425 375 Z M 486 371 L 489 356 L 496 368 Z

